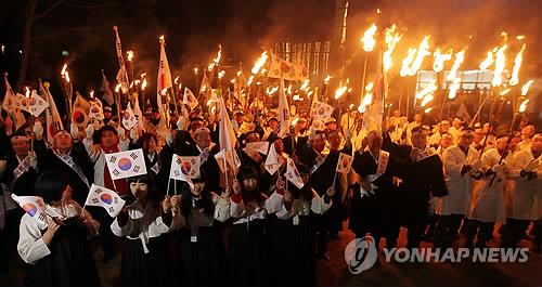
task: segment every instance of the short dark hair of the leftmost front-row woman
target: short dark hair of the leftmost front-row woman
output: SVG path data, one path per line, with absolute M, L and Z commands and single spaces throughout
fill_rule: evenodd
M 36 195 L 41 196 L 46 204 L 60 201 L 67 185 L 69 185 L 69 179 L 65 173 L 60 171 L 46 171 L 36 180 Z

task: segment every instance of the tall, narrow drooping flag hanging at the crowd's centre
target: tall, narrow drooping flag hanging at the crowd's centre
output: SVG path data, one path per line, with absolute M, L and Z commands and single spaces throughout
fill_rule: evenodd
M 228 109 L 225 109 L 224 99 L 222 96 L 219 97 L 220 104 L 220 114 L 219 114 L 219 143 L 220 149 L 225 151 L 225 160 L 230 162 L 232 167 L 238 167 L 238 158 L 235 153 L 235 144 L 237 143 L 237 138 L 235 136 L 235 131 L 233 130 L 232 122 L 230 121 L 230 117 L 228 116 Z

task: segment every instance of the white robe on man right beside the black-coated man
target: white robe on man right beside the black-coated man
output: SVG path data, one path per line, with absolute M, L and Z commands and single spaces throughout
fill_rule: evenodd
M 460 146 L 452 145 L 444 151 L 442 161 L 444 166 L 448 195 L 438 199 L 437 213 L 441 216 L 468 213 L 473 180 L 469 172 L 461 175 L 464 165 L 474 165 L 478 160 L 479 153 L 473 147 L 465 155 Z

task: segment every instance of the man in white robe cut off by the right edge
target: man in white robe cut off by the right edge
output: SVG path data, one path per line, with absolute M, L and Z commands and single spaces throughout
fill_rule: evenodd
M 542 133 L 532 138 L 532 143 L 517 152 L 507 161 L 509 165 L 511 201 L 506 214 L 506 229 L 501 245 L 515 247 L 525 235 L 530 221 L 535 221 L 535 245 L 540 248 L 542 219 Z

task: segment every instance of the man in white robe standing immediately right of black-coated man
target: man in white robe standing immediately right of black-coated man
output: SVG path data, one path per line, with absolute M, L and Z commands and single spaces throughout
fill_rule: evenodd
M 439 219 L 435 230 L 435 246 L 451 247 L 462 220 L 468 214 L 473 190 L 473 177 L 481 167 L 479 153 L 472 144 L 474 130 L 464 128 L 457 144 L 442 155 L 449 194 L 437 201 Z

